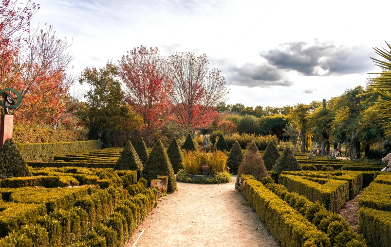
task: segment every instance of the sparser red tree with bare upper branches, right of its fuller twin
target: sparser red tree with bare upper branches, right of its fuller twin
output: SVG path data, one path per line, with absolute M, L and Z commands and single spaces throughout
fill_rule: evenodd
M 206 127 L 226 100 L 228 88 L 220 70 L 209 70 L 206 54 L 175 53 L 168 57 L 171 112 L 188 128 Z

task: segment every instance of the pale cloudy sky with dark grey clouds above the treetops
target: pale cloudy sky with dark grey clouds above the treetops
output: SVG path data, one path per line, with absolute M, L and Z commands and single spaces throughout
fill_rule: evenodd
M 391 42 L 388 1 L 37 0 L 33 24 L 73 39 L 74 73 L 140 45 L 206 53 L 249 106 L 309 103 L 365 85 Z M 77 87 L 80 87 L 77 85 Z

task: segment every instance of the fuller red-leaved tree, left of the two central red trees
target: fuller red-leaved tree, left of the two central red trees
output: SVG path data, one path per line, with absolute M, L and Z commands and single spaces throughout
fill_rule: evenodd
M 161 127 L 167 113 L 170 83 L 158 48 L 134 48 L 118 62 L 119 77 L 127 89 L 125 100 L 143 116 L 146 127 Z

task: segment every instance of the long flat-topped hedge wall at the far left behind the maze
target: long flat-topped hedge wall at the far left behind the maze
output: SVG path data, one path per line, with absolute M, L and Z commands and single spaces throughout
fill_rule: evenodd
M 18 144 L 26 161 L 53 161 L 56 154 L 82 152 L 100 147 L 101 141 Z

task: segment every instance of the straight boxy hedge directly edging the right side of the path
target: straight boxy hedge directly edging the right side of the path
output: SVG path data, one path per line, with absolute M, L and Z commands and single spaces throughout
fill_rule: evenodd
M 284 247 L 330 247 L 327 235 L 264 187 L 253 176 L 242 175 L 242 192 L 267 229 Z

